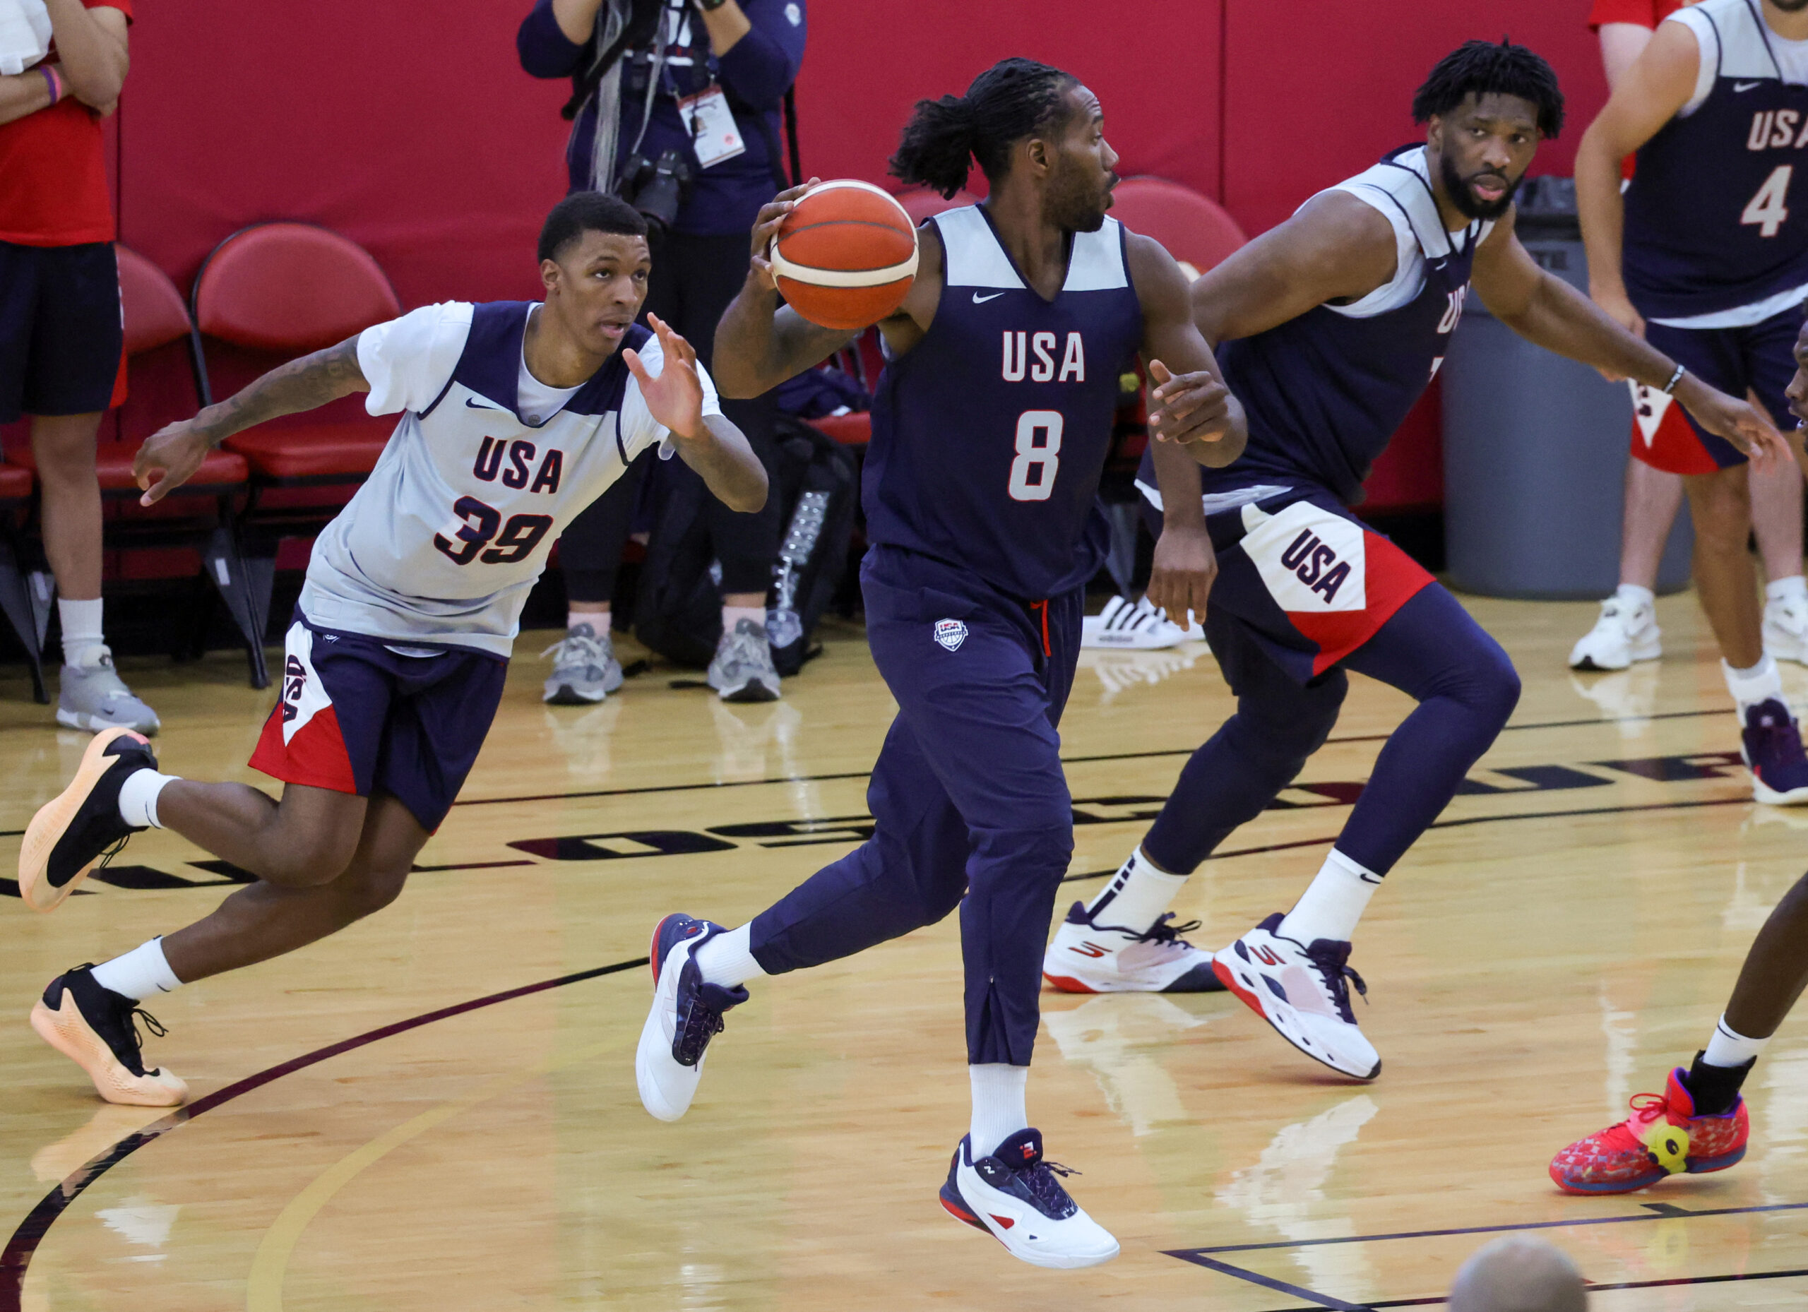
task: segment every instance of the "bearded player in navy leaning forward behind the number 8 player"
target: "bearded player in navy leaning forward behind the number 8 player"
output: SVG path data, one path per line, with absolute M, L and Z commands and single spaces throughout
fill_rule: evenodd
M 1455 795 L 1519 699 L 1499 643 L 1385 537 L 1347 510 L 1443 361 L 1474 284 L 1495 318 L 1549 351 L 1671 392 L 1748 454 L 1784 454 L 1725 396 L 1533 264 L 1513 190 L 1562 127 L 1551 67 L 1468 42 L 1419 87 L 1425 145 L 1320 192 L 1193 284 L 1193 314 L 1248 412 L 1240 459 L 1175 463 L 1159 492 L 1152 600 L 1215 555 L 1206 638 L 1237 712 L 1201 746 L 1161 817 L 1090 905 L 1074 904 L 1043 963 L 1056 987 L 1159 987 L 1143 938 L 1186 876 L 1300 773 L 1338 719 L 1347 670 L 1419 705 L 1374 763 L 1304 896 L 1217 952 L 1219 979 L 1300 1052 L 1356 1079 L 1381 1057 L 1356 1026 L 1351 936 L 1381 878 Z M 1191 486 L 1182 493 L 1184 483 Z M 1197 952 L 1201 958 L 1204 952 Z

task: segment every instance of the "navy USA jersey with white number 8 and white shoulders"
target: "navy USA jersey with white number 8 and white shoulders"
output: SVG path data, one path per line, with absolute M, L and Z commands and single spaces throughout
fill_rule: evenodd
M 870 540 L 967 569 L 1023 600 L 1085 584 L 1105 560 L 1096 493 L 1117 378 L 1143 342 L 1125 233 L 1074 233 L 1043 300 L 980 206 L 937 215 L 942 300 L 886 365 L 862 502 Z

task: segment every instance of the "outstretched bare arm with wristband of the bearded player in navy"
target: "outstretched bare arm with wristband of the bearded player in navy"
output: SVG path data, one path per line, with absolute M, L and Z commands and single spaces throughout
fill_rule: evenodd
M 1609 378 L 1631 378 L 1669 392 L 1703 428 L 1754 463 L 1792 457 L 1783 436 L 1748 401 L 1709 387 L 1568 282 L 1540 269 L 1513 235 L 1511 211 L 1475 251 L 1474 282 L 1488 313 L 1528 342 L 1593 365 Z

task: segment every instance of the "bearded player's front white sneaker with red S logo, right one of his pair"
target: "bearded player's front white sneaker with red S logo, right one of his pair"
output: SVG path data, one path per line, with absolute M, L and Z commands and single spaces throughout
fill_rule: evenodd
M 1311 945 L 1280 932 L 1276 911 L 1213 958 L 1224 987 L 1237 994 L 1275 1032 L 1313 1061 L 1356 1079 L 1381 1073 L 1381 1057 L 1356 1028 L 1351 990 L 1369 996 L 1351 970 L 1351 945 L 1329 938 Z

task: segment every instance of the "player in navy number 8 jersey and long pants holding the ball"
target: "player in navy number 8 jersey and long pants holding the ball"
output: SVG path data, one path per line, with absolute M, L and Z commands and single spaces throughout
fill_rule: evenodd
M 1163 383 L 1159 445 L 1181 463 L 1235 459 L 1242 414 L 1179 266 L 1105 213 L 1117 154 L 1090 90 L 1005 60 L 965 96 L 918 103 L 891 172 L 953 195 L 969 159 L 991 195 L 924 224 L 917 280 L 879 325 L 890 363 L 873 401 L 861 584 L 899 716 L 866 795 L 873 837 L 738 929 L 662 920 L 635 1070 L 647 1111 L 676 1120 L 747 983 L 960 907 L 973 1120 L 942 1205 L 1023 1261 L 1090 1267 L 1117 1240 L 1043 1160 L 1023 1090 L 1041 949 L 1074 849 L 1056 725 L 1105 555 L 1094 493 L 1117 378 L 1137 352 Z M 725 396 L 765 392 L 855 336 L 777 304 L 765 251 L 797 195 L 759 215 L 754 271 L 716 331 Z M 1202 607 L 1206 580 L 1186 582 Z

